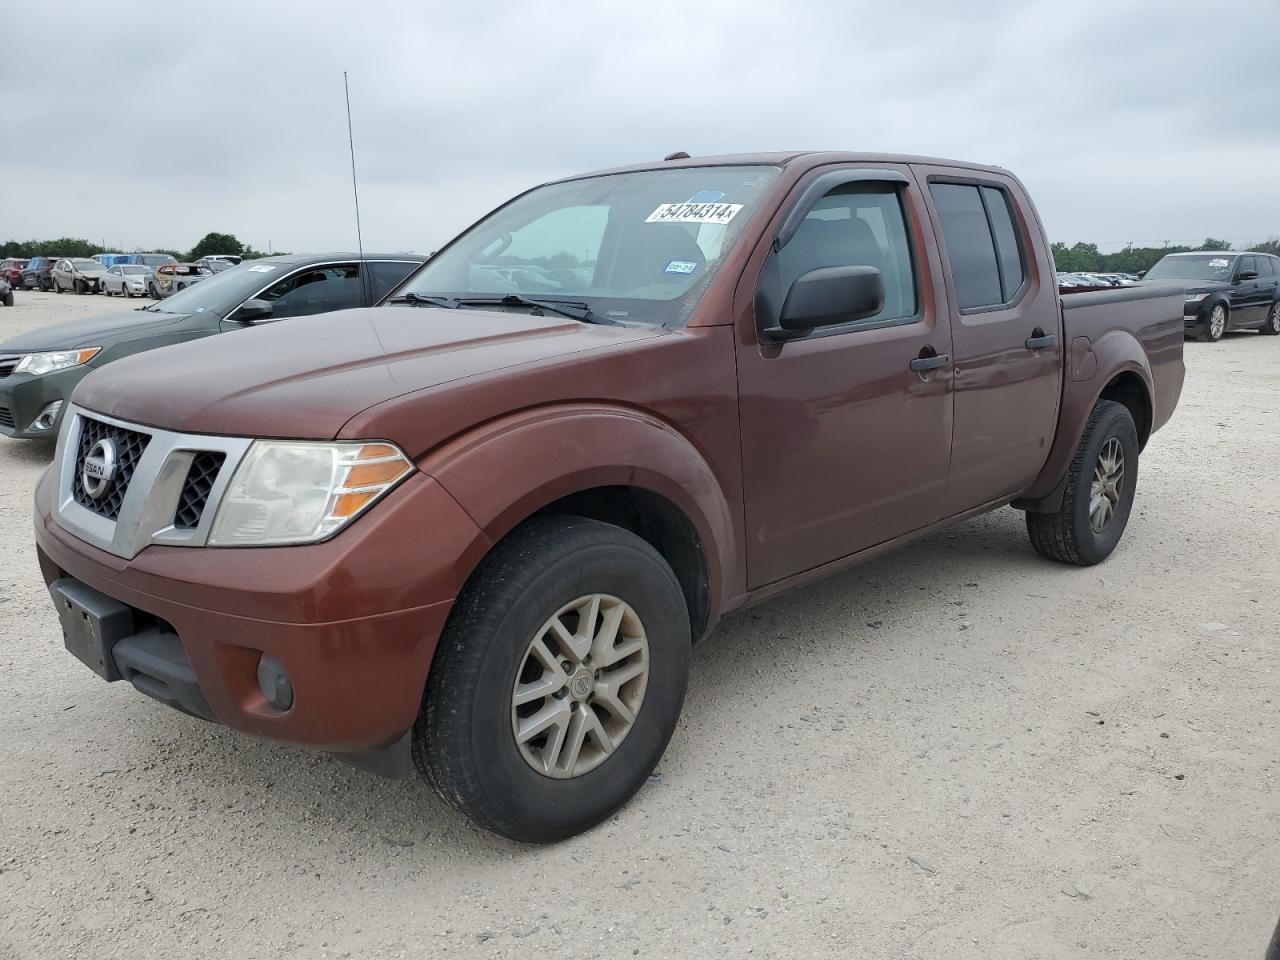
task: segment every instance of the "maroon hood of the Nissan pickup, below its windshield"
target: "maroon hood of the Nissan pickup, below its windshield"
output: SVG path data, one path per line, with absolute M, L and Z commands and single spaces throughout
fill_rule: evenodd
M 125 357 L 74 401 L 183 433 L 332 439 L 396 397 L 663 333 L 515 311 L 344 310 Z

